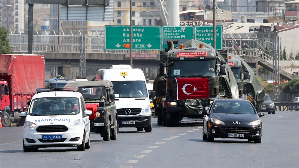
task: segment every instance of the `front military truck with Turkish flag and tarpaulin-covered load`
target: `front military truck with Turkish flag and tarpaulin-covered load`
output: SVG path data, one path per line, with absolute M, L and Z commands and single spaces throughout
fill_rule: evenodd
M 163 62 L 159 64 L 157 78 L 160 79 L 156 79 L 164 80 L 161 78 L 164 76 L 166 80 L 164 117 L 167 127 L 180 125 L 183 117 L 201 116 L 213 99 L 239 98 L 233 72 L 215 49 L 204 47 L 196 40 L 189 40 L 177 47 L 172 41 L 167 43 L 165 57 L 160 52 Z M 155 93 L 157 88 L 154 87 Z M 161 118 L 161 114 L 157 116 Z

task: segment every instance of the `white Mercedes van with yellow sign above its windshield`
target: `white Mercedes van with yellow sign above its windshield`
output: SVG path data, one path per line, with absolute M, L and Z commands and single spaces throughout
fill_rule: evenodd
M 141 69 L 130 65 L 112 65 L 99 69 L 95 80 L 110 80 L 114 86 L 119 127 L 136 127 L 152 132 L 152 112 L 146 79 Z M 155 93 L 152 93 L 154 97 Z

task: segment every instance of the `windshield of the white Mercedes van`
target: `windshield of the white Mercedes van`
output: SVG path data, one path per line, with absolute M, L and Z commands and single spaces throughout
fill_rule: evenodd
M 144 81 L 112 81 L 115 98 L 147 97 Z

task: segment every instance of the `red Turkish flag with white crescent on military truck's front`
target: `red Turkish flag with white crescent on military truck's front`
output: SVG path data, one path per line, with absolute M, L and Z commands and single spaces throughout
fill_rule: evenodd
M 176 78 L 178 100 L 209 98 L 208 78 Z

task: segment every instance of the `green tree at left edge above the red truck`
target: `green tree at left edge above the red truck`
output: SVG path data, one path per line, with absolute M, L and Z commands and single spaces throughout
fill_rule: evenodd
M 10 40 L 8 38 L 8 30 L 4 26 L 0 27 L 0 53 L 1 54 L 12 53 Z

